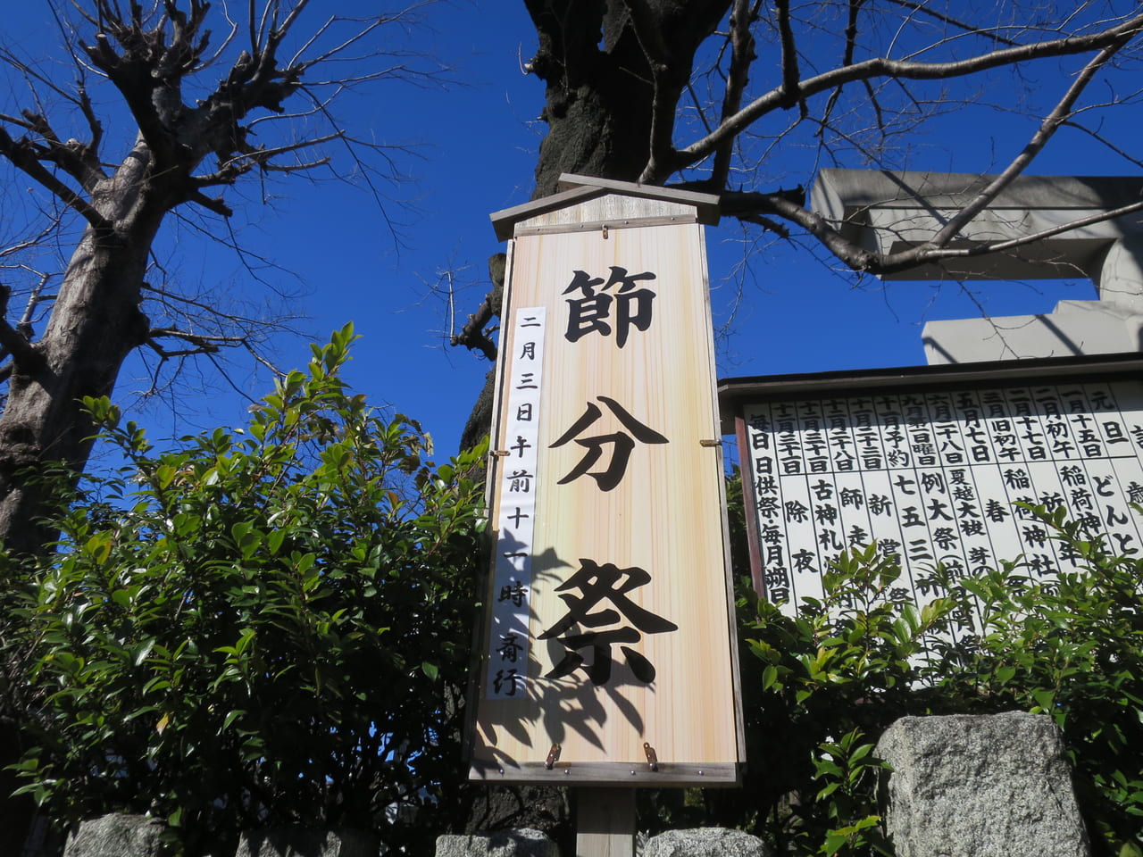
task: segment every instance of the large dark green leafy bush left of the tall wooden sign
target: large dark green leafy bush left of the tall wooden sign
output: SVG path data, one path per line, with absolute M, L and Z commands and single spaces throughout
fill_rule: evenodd
M 87 402 L 130 466 L 72 504 L 22 610 L 47 695 L 22 772 L 54 818 L 151 812 L 190 852 L 463 823 L 482 458 L 424 462 L 416 423 L 346 391 L 351 339 L 170 452 Z

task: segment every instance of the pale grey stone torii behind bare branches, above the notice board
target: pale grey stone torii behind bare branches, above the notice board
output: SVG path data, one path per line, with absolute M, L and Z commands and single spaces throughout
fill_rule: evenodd
M 813 209 L 877 253 L 930 240 L 996 176 L 823 169 Z M 1143 177 L 1020 176 L 953 247 L 1008 241 L 1114 211 L 1143 199 Z M 886 280 L 1090 279 L 1096 301 L 1061 301 L 1042 315 L 929 321 L 932 363 L 1143 351 L 1143 213 L 1049 235 L 1004 253 L 952 257 Z

